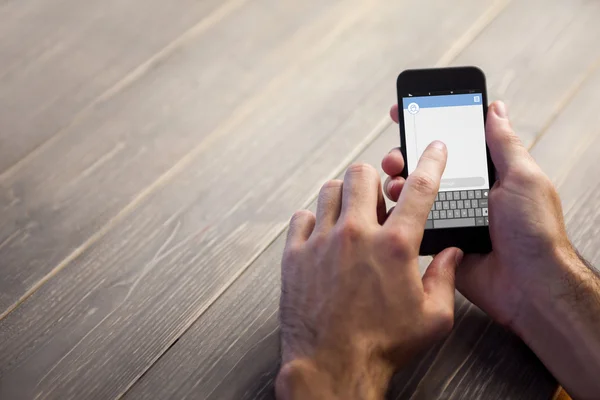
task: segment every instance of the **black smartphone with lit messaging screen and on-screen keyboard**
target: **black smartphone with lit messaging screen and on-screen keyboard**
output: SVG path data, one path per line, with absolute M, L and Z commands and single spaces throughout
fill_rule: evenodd
M 488 194 L 496 173 L 485 140 L 485 75 L 476 67 L 406 70 L 397 88 L 403 176 L 434 140 L 448 149 L 420 254 L 451 246 L 466 253 L 491 251 Z

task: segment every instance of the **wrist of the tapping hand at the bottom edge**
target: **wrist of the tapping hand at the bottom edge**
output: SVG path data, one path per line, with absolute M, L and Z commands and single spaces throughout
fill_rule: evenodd
M 393 372 L 383 360 L 320 355 L 282 365 L 275 388 L 280 400 L 383 399 Z

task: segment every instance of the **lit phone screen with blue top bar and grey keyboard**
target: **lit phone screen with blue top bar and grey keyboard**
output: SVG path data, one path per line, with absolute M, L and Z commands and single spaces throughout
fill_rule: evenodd
M 403 97 L 408 174 L 425 148 L 440 140 L 448 161 L 426 229 L 488 225 L 490 189 L 481 93 Z

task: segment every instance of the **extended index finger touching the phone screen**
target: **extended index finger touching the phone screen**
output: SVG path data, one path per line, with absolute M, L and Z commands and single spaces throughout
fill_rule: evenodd
M 421 241 L 447 158 L 448 151 L 444 143 L 436 140 L 427 146 L 417 168 L 406 179 L 396 208 L 386 225 L 394 229 L 403 227 L 415 240 Z

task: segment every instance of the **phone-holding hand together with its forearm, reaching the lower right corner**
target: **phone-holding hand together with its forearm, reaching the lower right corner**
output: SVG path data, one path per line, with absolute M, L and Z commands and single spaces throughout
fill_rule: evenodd
M 397 106 L 390 114 L 398 122 Z M 590 310 L 600 313 L 600 279 L 569 242 L 557 191 L 513 132 L 501 102 L 489 107 L 486 141 L 498 178 L 489 195 L 493 251 L 466 255 L 456 287 L 520 335 L 571 395 L 600 398 L 594 378 L 600 371 L 600 322 L 585 320 Z M 395 201 L 404 181 L 399 149 L 382 167 L 389 175 L 384 191 Z M 585 307 L 573 304 L 577 296 Z M 565 324 L 579 329 L 578 339 L 565 333 Z

